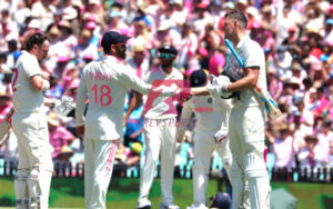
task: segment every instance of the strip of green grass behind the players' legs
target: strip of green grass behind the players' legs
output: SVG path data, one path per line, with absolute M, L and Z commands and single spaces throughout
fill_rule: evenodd
M 137 178 L 113 178 L 107 196 L 107 207 L 110 209 L 134 209 L 139 195 L 139 181 Z M 299 199 L 297 209 L 332 209 L 333 187 L 323 183 L 285 183 L 273 182 L 272 189 L 285 188 Z M 221 188 L 220 188 L 221 189 Z M 218 192 L 218 181 L 210 180 L 206 197 Z M 224 187 L 222 188 L 224 191 Z M 83 179 L 80 178 L 53 178 L 50 195 L 51 208 L 84 208 Z M 192 205 L 192 180 L 174 179 L 174 203 L 181 208 Z M 153 208 L 159 208 L 161 200 L 160 179 L 153 181 L 150 200 Z M 331 202 L 331 205 L 330 205 Z M 324 207 L 326 203 L 326 207 Z M 14 206 L 14 189 L 12 178 L 0 178 L 0 207 Z

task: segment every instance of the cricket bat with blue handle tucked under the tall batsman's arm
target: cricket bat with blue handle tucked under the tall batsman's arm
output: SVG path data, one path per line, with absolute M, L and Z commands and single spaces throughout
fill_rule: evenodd
M 230 40 L 225 39 L 224 42 L 225 42 L 226 47 L 230 49 L 230 51 L 233 54 L 233 57 L 240 63 L 241 68 L 244 68 L 243 60 L 241 60 L 240 56 L 234 50 L 234 48 L 233 48 L 232 43 L 230 42 Z M 282 115 L 281 110 L 279 109 L 276 102 L 273 100 L 273 98 L 271 97 L 271 94 L 269 93 L 269 91 L 262 89 L 262 87 L 260 86 L 260 83 L 256 83 L 256 86 L 253 89 L 253 91 L 260 98 L 260 100 L 263 102 L 263 106 L 265 107 L 265 110 L 266 110 L 269 117 L 272 120 L 279 118 Z

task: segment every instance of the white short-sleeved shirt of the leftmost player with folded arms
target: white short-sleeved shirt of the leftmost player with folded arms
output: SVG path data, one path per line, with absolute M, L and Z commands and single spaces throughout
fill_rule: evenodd
M 30 81 L 30 78 L 37 74 L 41 74 L 37 58 L 28 51 L 22 51 L 11 79 L 16 112 L 40 111 L 44 107 L 43 92 L 36 90 Z

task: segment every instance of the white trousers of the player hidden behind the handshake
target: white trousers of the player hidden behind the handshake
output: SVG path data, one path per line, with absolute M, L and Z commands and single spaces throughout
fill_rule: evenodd
M 229 139 L 224 139 L 216 143 L 213 136 L 215 132 L 195 132 L 194 133 L 194 163 L 193 171 L 193 195 L 194 203 L 206 203 L 205 192 L 209 182 L 209 171 L 211 158 L 214 150 L 222 158 L 223 167 L 230 178 L 230 166 L 232 161 L 229 148 Z

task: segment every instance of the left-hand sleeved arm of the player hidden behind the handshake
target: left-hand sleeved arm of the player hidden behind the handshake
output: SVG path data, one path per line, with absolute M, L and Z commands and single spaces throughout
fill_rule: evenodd
M 184 102 L 181 119 L 179 121 L 178 130 L 176 130 L 176 139 L 180 139 L 178 141 L 181 141 L 183 139 L 184 133 L 186 131 L 186 127 L 189 125 L 189 121 L 192 116 L 193 108 L 191 106 L 191 99 L 186 102 Z

